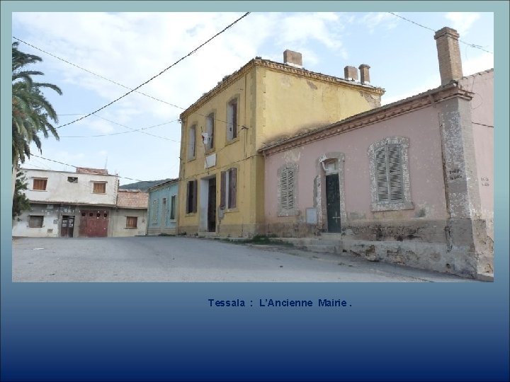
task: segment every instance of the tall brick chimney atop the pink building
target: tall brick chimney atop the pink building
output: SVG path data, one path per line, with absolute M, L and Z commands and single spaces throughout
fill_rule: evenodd
M 438 51 L 441 85 L 463 77 L 458 37 L 457 31 L 448 27 L 441 28 L 434 35 Z

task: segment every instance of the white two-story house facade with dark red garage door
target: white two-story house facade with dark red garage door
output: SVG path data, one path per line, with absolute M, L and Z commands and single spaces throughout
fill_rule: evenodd
M 77 172 L 22 168 L 30 211 L 13 221 L 13 236 L 111 236 L 111 212 L 117 201 L 118 177 L 106 170 Z

